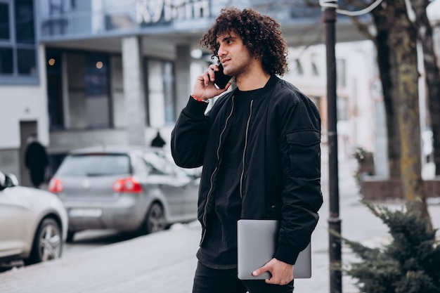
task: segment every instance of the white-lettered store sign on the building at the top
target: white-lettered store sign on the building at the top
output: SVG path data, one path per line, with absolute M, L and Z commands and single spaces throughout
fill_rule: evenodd
M 198 18 L 209 18 L 209 0 L 136 1 L 136 21 L 140 25 Z

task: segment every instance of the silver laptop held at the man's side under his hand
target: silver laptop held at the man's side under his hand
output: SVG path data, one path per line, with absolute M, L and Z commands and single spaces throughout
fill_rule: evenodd
M 252 272 L 273 259 L 278 237 L 276 220 L 244 220 L 237 222 L 238 236 L 238 278 L 240 280 L 261 280 L 271 278 L 265 272 L 257 277 Z M 311 278 L 310 243 L 299 253 L 293 270 L 293 277 Z

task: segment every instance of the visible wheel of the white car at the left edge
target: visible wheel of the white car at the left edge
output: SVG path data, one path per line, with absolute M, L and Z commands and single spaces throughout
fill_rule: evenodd
M 62 249 L 63 237 L 60 225 L 53 219 L 44 219 L 37 230 L 31 254 L 29 259 L 25 259 L 25 264 L 58 259 Z

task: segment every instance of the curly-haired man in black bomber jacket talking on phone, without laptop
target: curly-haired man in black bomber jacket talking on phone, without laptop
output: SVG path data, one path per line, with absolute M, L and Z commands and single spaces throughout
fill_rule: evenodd
M 252 8 L 224 8 L 200 44 L 233 77 L 236 88 L 214 85 L 210 65 L 194 85 L 172 131 L 172 155 L 184 168 L 203 166 L 198 219 L 202 239 L 193 293 L 292 292 L 294 265 L 318 223 L 321 117 L 316 106 L 280 79 L 287 44 L 280 25 Z M 207 100 L 224 93 L 207 110 Z M 273 259 L 237 276 L 237 221 L 276 219 Z

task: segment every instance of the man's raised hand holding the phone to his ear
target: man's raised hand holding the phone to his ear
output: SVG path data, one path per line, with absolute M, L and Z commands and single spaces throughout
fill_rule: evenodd
M 214 98 L 219 94 L 224 93 L 231 86 L 231 82 L 226 84 L 224 89 L 217 89 L 214 85 L 215 74 L 214 71 L 219 71 L 219 67 L 216 64 L 209 65 L 209 68 L 199 75 L 194 84 L 193 96 L 202 100 Z

